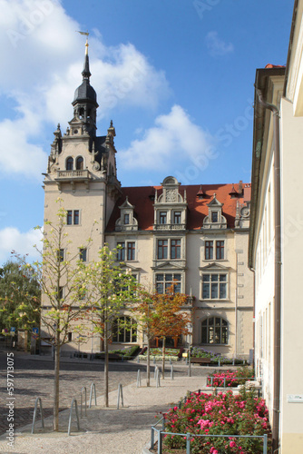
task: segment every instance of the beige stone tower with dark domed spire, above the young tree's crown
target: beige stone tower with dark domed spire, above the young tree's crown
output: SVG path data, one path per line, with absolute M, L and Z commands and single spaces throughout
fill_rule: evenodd
M 66 132 L 58 124 L 44 173 L 44 221 L 55 222 L 60 197 L 67 212 L 66 232 L 73 253 L 92 235 L 93 247 L 87 260 L 96 258 L 104 243 L 104 231 L 121 184 L 117 180 L 112 125 L 102 136 L 96 134 L 97 95 L 90 82 L 88 43 L 85 44 L 83 81 L 75 90 L 73 119 Z M 90 257 L 89 257 L 90 255 Z

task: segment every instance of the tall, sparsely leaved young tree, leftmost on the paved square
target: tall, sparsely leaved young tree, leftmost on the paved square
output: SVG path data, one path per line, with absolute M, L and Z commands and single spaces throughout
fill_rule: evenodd
M 63 201 L 58 199 L 57 202 L 61 204 Z M 37 227 L 43 234 L 42 250 L 35 248 L 41 260 L 34 264 L 24 262 L 22 267 L 39 282 L 42 291 L 41 331 L 44 331 L 44 341 L 54 348 L 54 430 L 59 429 L 60 350 L 69 341 L 70 331 L 83 336 L 86 331 L 84 316 L 88 311 L 82 298 L 79 252 L 68 252 L 71 242 L 64 232 L 65 220 L 66 212 L 61 206 L 57 222 L 45 222 L 44 231 Z

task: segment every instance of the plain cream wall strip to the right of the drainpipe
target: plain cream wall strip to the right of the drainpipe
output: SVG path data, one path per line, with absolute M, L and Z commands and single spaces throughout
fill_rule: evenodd
M 303 208 L 298 203 L 302 192 L 303 117 L 293 115 L 293 105 L 281 102 L 282 138 L 282 358 L 281 358 L 281 433 L 283 452 L 303 450 L 303 404 L 289 403 L 289 394 L 302 395 L 303 363 L 300 336 L 303 317 L 300 298 L 303 249 Z M 294 165 L 295 164 L 295 165 Z

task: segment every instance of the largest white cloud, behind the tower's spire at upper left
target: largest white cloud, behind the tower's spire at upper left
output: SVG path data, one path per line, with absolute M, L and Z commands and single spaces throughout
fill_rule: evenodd
M 15 116 L 0 122 L 0 173 L 40 178 L 47 160 L 37 145 L 45 123 L 72 119 L 73 93 L 82 82 L 84 40 L 80 25 L 58 0 L 0 0 L 0 95 L 11 98 Z M 102 118 L 130 105 L 154 108 L 169 93 L 165 74 L 132 44 L 106 47 L 90 36 L 92 84 Z M 16 137 L 18 135 L 18 137 Z M 7 153 L 9 150 L 10 153 Z

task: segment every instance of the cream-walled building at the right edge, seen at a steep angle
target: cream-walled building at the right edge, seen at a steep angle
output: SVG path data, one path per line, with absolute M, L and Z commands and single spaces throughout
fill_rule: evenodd
M 303 168 L 302 17 L 303 2 L 295 2 L 287 67 L 257 70 L 261 98 L 256 93 L 249 238 L 249 264 L 255 270 L 255 365 L 269 406 L 275 452 L 286 454 L 303 451 L 298 254 L 303 241 L 298 203 Z M 270 104 L 278 108 L 278 122 Z

